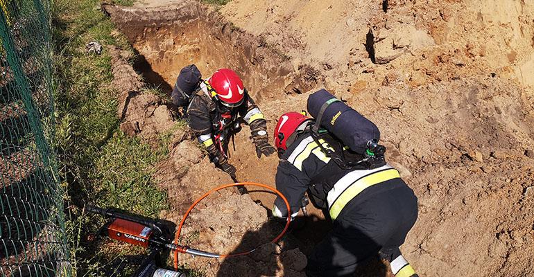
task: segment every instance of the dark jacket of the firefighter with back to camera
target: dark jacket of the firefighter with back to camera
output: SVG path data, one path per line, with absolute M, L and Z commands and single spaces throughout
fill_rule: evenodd
M 334 150 L 319 140 L 325 149 Z M 301 134 L 284 152 L 276 173 L 276 188 L 296 215 L 300 200 L 308 190 L 311 202 L 327 211 L 332 220 L 378 193 L 407 186 L 394 168 L 384 165 L 372 170 L 343 170 L 313 140 L 310 132 Z M 284 201 L 277 197 L 273 213 L 287 216 Z

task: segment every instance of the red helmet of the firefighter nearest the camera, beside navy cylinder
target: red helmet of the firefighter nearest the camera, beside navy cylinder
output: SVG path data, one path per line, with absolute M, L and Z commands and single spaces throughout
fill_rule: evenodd
M 286 145 L 286 143 L 288 143 L 288 139 L 290 139 L 291 135 L 295 133 L 297 128 L 307 120 L 311 120 L 311 118 L 295 111 L 290 111 L 280 116 L 274 132 L 276 148 L 287 150 L 288 145 Z M 291 140 L 293 139 L 295 138 L 293 137 Z M 293 143 L 291 140 L 289 141 L 289 144 Z

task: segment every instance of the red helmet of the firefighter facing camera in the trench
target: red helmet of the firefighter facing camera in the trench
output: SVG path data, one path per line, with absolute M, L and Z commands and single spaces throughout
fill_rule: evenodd
M 227 107 L 237 107 L 245 99 L 243 81 L 232 69 L 219 69 L 208 80 L 221 103 Z

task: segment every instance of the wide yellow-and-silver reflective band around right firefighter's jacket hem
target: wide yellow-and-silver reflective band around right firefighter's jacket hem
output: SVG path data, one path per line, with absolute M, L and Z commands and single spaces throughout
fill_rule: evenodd
M 365 190 L 365 188 L 369 188 L 370 186 L 374 186 L 376 184 L 380 184 L 381 182 L 395 178 L 400 178 L 400 175 L 397 170 L 392 168 L 372 173 L 371 175 L 365 176 L 354 182 L 338 197 L 338 199 L 336 199 L 334 204 L 332 204 L 329 211 L 331 219 L 335 220 L 345 205 L 350 202 L 352 198 L 356 197 L 356 195 L 359 195 L 359 193 Z

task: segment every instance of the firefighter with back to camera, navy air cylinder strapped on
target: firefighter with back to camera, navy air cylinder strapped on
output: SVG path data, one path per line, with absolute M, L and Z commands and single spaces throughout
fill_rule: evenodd
M 308 99 L 304 114 L 288 112 L 275 127 L 280 157 L 276 188 L 299 211 L 304 193 L 332 221 L 308 257 L 307 276 L 350 276 L 379 255 L 397 277 L 417 276 L 399 250 L 417 220 L 417 197 L 384 159 L 379 130 L 324 89 Z M 279 197 L 275 217 L 287 215 Z

